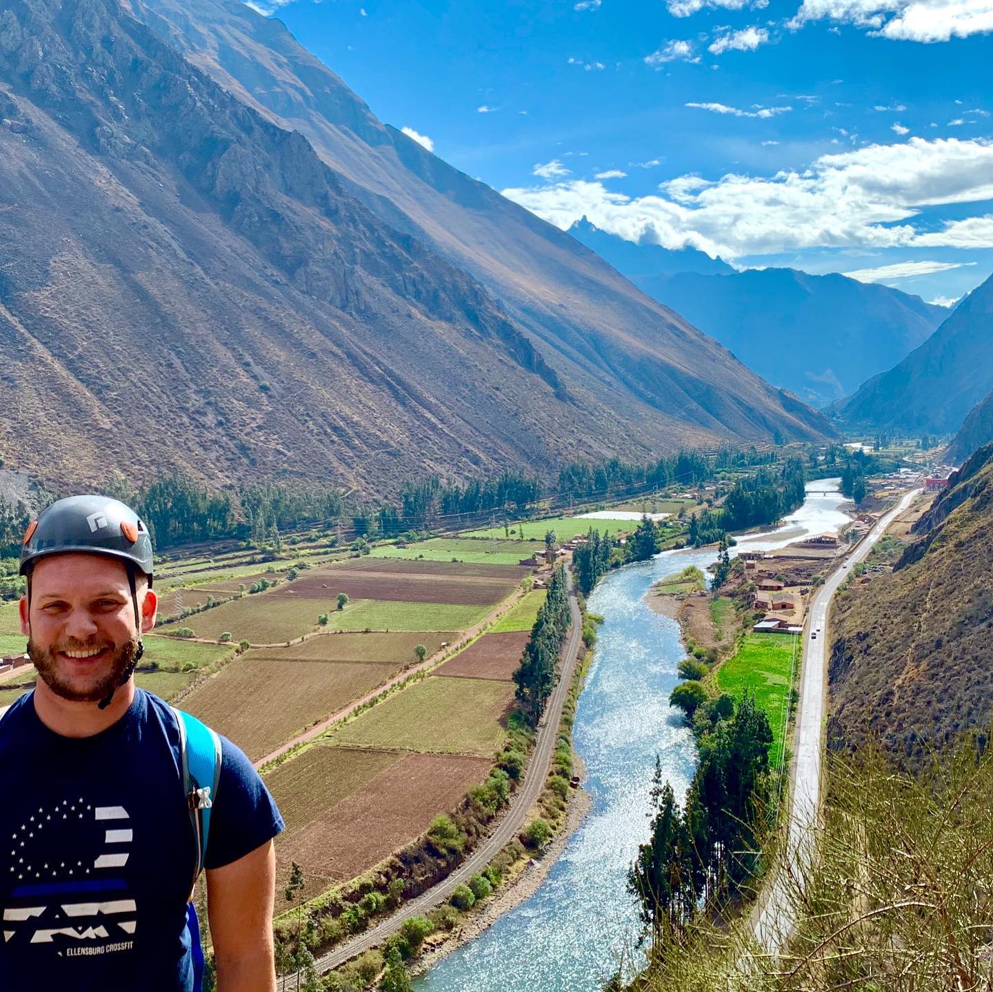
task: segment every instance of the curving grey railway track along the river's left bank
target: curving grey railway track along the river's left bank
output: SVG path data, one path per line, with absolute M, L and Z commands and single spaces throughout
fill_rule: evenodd
M 545 778 L 555 751 L 555 742 L 558 738 L 562 707 L 565 705 L 569 686 L 572 684 L 573 670 L 579 656 L 580 638 L 583 634 L 582 618 L 576 604 L 572 576 L 568 570 L 566 574 L 569 576 L 569 611 L 572 624 L 562 653 L 559 680 L 548 699 L 545 715 L 538 727 L 534 751 L 527 764 L 527 773 L 523 784 L 514 792 L 509 808 L 497 823 L 497 829 L 443 882 L 439 882 L 438 885 L 416 899 L 404 903 L 399 912 L 393 914 L 388 920 L 382 921 L 364 933 L 359 933 L 353 940 L 318 958 L 317 969 L 319 972 L 337 968 L 362 951 L 381 944 L 387 937 L 392 936 L 404 921 L 410 920 L 412 917 L 423 916 L 428 910 L 447 902 L 457 885 L 468 882 L 473 875 L 483 871 L 497 856 L 497 853 L 520 832 L 528 812 L 544 788 Z M 296 978 L 287 975 L 280 981 L 279 988 L 285 990 L 296 988 Z

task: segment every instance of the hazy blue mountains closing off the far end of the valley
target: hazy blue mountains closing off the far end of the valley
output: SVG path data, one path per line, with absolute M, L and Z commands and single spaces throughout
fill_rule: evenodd
M 948 316 L 888 286 L 796 269 L 737 272 L 693 248 L 626 241 L 585 217 L 569 232 L 764 378 L 815 406 L 892 367 Z

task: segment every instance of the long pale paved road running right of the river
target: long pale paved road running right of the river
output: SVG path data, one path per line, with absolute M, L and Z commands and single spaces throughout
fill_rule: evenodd
M 793 788 L 785 852 L 787 863 L 801 869 L 810 863 L 813 856 L 813 827 L 820 801 L 824 706 L 827 698 L 828 608 L 838 586 L 845 581 L 852 568 L 869 554 L 887 527 L 921 492 L 914 490 L 908 493 L 894 509 L 881 517 L 810 603 L 810 623 L 804 636 L 806 650 L 801 669 L 799 719 L 793 740 Z M 811 638 L 814 632 L 816 639 Z M 790 890 L 786 874 L 780 871 L 768 890 L 765 904 L 754 918 L 755 936 L 770 953 L 779 953 L 792 929 Z

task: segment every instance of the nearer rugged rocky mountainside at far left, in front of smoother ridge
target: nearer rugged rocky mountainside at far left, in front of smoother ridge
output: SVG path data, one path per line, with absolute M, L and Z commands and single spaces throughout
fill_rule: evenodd
M 627 385 L 611 357 L 577 362 L 414 233 L 115 0 L 0 12 L 0 444 L 18 466 L 371 491 L 780 420 L 816 434 L 759 380 L 725 426 L 716 378 Z M 649 395 L 680 375 L 696 416 Z

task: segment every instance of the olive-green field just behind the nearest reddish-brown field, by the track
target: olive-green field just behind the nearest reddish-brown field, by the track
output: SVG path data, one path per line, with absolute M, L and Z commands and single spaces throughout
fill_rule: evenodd
M 489 758 L 503 742 L 509 682 L 426 678 L 387 697 L 334 734 L 335 744 Z

